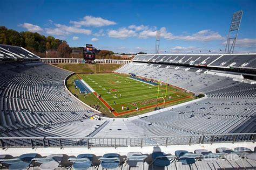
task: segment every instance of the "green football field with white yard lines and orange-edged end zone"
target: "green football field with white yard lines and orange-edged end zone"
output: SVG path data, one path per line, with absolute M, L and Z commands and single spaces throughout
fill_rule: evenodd
M 192 98 L 191 95 L 180 90 L 177 91 L 173 87 L 167 87 L 166 92 L 166 86 L 163 85 L 158 90 L 158 85 L 152 86 L 122 74 L 79 74 L 79 76 L 118 114 L 125 112 L 126 108 L 129 110 L 136 109 L 136 107 L 146 109 L 163 103 L 164 100 L 165 103 L 171 103 L 172 101 L 182 101 L 183 98 L 184 100 Z M 164 97 L 164 99 L 160 97 Z M 122 106 L 126 108 L 122 110 Z

